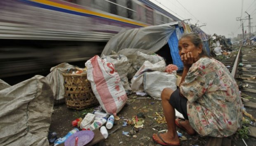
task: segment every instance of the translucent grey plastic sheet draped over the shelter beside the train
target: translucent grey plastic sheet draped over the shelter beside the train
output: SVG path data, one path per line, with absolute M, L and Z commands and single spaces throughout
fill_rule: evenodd
M 154 53 L 161 49 L 170 38 L 179 22 L 163 24 L 159 26 L 148 26 L 144 28 L 134 28 L 114 35 L 104 47 L 102 55 L 110 55 L 111 51 L 119 52 L 121 49 L 134 48 L 144 49 L 149 53 Z

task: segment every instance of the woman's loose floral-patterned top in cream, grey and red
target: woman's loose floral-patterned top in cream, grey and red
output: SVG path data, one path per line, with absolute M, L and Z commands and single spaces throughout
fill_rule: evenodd
M 228 137 L 242 126 L 237 83 L 219 61 L 203 57 L 192 64 L 180 92 L 188 99 L 190 125 L 199 134 Z

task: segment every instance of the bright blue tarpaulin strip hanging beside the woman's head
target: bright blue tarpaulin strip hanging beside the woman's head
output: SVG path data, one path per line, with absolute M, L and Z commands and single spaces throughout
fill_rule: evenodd
M 178 67 L 178 71 L 183 70 L 183 62 L 181 61 L 180 55 L 179 55 L 179 50 L 178 50 L 178 38 L 176 35 L 176 31 L 173 31 L 171 34 L 169 40 L 168 40 L 168 45 L 171 50 L 171 57 L 173 59 L 173 64 Z

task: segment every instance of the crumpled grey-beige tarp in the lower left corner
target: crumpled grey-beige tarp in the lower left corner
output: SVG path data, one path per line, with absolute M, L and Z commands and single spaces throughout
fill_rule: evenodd
M 13 86 L 0 80 L 0 146 L 49 146 L 52 99 L 43 76 Z

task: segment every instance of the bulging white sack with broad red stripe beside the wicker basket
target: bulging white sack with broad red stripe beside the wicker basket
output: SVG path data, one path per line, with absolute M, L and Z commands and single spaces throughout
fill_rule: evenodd
M 127 101 L 127 95 L 114 64 L 96 55 L 88 60 L 85 66 L 92 91 L 104 111 L 114 115 L 121 111 Z

